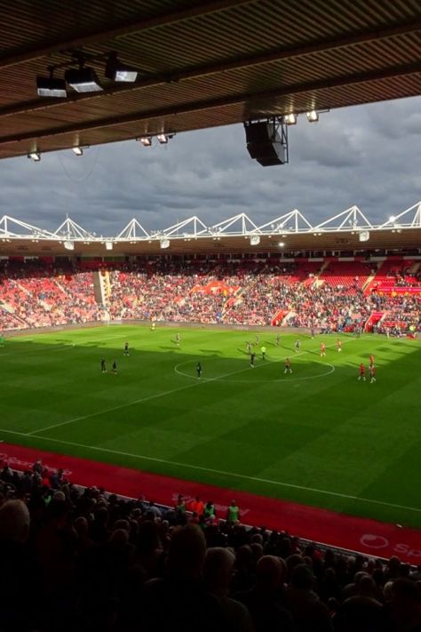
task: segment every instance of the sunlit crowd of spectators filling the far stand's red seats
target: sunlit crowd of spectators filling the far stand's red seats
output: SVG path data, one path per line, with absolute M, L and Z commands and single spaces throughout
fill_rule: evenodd
M 0 329 L 111 318 L 260 326 L 276 323 L 341 332 L 362 329 L 373 312 L 381 312 L 377 331 L 420 331 L 420 294 L 379 292 L 376 283 L 368 291 L 365 282 L 375 272 L 369 268 L 344 262 L 341 276 L 338 261 L 327 265 L 162 259 L 102 267 L 99 273 L 52 264 L 9 264 L 0 270 Z M 364 270 L 367 276 L 362 276 Z M 393 270 L 387 268 L 385 274 Z M 360 274 L 353 276 L 355 271 Z M 409 279 L 404 273 L 399 272 L 400 278 Z M 102 276 L 106 289 L 101 300 L 95 297 L 94 274 Z M 398 273 L 394 270 L 393 274 Z M 413 284 L 417 281 L 416 276 L 410 279 Z

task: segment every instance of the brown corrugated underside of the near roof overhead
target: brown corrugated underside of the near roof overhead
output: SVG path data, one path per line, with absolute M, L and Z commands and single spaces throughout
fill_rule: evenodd
M 3 3 L 0 157 L 417 95 L 420 31 L 418 0 Z M 37 96 L 76 60 L 103 90 Z

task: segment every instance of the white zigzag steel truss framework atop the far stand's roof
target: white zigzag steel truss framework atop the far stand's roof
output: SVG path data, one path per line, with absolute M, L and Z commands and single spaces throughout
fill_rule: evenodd
M 168 228 L 163 228 L 163 230 L 151 230 L 148 232 L 138 220 L 133 218 L 116 236 L 98 236 L 68 217 L 60 224 L 59 228 L 51 232 L 28 224 L 25 221 L 12 218 L 9 215 L 4 215 L 0 220 L 0 242 L 26 239 L 36 243 L 99 243 L 104 244 L 107 250 L 111 250 L 109 244 L 137 244 L 144 241 L 149 243 L 158 241 L 162 245 L 164 244 L 164 248 L 168 248 L 172 240 L 188 241 L 203 237 L 220 240 L 228 236 L 238 236 L 250 237 L 250 244 L 258 245 L 260 236 L 286 237 L 298 234 L 316 236 L 324 233 L 341 232 L 358 234 L 382 230 L 401 232 L 402 230 L 413 228 L 421 228 L 421 201 L 377 225 L 372 224 L 358 206 L 351 206 L 316 225 L 312 225 L 298 209 L 286 212 L 262 226 L 257 226 L 245 213 L 239 213 L 210 227 L 207 227 L 202 220 L 194 215 Z M 361 241 L 365 241 L 365 239 L 361 239 Z M 68 248 L 68 250 L 72 249 Z

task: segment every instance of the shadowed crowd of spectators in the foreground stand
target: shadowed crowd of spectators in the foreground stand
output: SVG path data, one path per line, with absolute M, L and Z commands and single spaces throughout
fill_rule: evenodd
M 0 473 L 2 632 L 419 632 L 421 566 L 346 555 L 233 511 Z M 226 519 L 221 519 L 226 518 Z

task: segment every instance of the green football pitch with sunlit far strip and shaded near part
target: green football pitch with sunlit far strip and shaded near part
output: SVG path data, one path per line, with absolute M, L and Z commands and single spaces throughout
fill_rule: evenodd
M 276 331 L 258 335 L 254 368 L 255 332 L 119 325 L 8 339 L 0 437 L 421 526 L 419 341 L 343 335 L 338 353 L 333 335 L 282 334 L 278 347 Z M 373 384 L 357 380 L 370 353 Z

